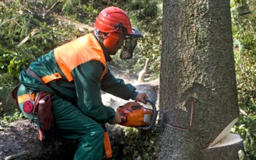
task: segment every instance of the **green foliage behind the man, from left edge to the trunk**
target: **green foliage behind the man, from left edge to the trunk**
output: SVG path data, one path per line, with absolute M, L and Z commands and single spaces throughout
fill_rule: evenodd
M 41 0 L 35 3 L 16 0 L 12 3 L 7 2 L 0 3 L 0 68 L 2 72 L 8 71 L 14 78 L 18 78 L 19 72 L 27 68 L 29 63 L 35 61 L 37 57 L 83 34 L 74 30 L 72 25 L 61 22 L 52 14 L 42 16 L 42 10 L 49 9 L 56 1 Z M 151 71 L 158 74 L 162 29 L 162 6 L 159 3 L 157 0 L 134 0 L 132 3 L 130 1 L 67 0 L 55 10 L 73 20 L 92 26 L 103 8 L 122 6 L 121 8 L 129 14 L 133 26 L 139 28 L 145 38 L 138 42 L 134 60 L 124 62 L 116 58 L 114 65 L 121 64 L 123 70 L 133 68 L 138 71 L 144 65 L 145 59 L 150 57 L 148 66 Z M 148 28 L 148 25 L 152 27 Z M 34 29 L 37 31 L 32 36 L 31 32 Z M 30 40 L 17 47 L 19 42 L 28 35 L 30 35 Z

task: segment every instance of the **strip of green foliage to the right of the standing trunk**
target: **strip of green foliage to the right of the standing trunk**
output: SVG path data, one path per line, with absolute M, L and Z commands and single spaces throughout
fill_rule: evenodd
M 243 138 L 244 159 L 256 159 L 256 36 L 255 0 L 231 1 L 239 108 L 235 132 Z

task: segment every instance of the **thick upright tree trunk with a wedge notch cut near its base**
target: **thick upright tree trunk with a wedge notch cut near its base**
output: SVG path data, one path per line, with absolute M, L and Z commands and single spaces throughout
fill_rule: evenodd
M 162 40 L 159 159 L 238 158 L 230 1 L 164 0 Z

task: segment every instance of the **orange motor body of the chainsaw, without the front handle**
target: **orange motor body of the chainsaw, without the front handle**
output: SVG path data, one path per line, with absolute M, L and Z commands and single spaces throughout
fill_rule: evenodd
M 150 124 L 153 114 L 151 109 L 144 108 L 137 102 L 128 102 L 119 106 L 116 111 L 122 120 L 120 125 L 130 127 L 147 126 Z

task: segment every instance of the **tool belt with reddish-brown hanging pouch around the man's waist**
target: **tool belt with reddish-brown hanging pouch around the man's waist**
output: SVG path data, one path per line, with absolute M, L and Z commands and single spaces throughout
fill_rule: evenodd
M 41 81 L 41 79 L 30 69 L 26 70 L 26 73 L 30 74 L 34 78 L 38 79 L 42 84 L 45 84 Z M 46 84 L 45 84 L 46 85 Z M 16 87 L 13 92 L 13 98 L 16 100 L 18 104 L 18 97 L 17 97 L 18 87 Z M 30 93 L 31 94 L 31 93 Z M 36 92 L 33 99 L 29 98 L 26 102 L 31 103 L 33 105 L 29 114 L 36 115 L 37 119 L 37 126 L 38 126 L 38 138 L 40 141 L 50 141 L 54 136 L 54 118 L 52 116 L 51 111 L 51 93 L 46 93 L 42 91 Z M 24 104 L 26 103 L 24 102 Z M 19 100 L 19 103 L 20 100 Z M 23 105 L 24 105 L 23 104 Z M 24 106 L 23 106 L 24 109 Z M 32 121 L 34 121 L 32 119 Z

